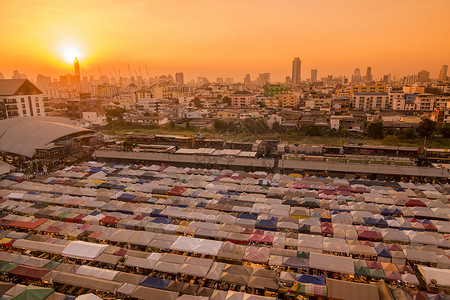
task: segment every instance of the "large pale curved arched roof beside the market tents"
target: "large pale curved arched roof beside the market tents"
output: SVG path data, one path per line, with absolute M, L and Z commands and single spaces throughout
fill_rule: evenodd
M 0 151 L 33 157 L 36 148 L 76 133 L 92 133 L 68 118 L 17 117 L 0 120 Z

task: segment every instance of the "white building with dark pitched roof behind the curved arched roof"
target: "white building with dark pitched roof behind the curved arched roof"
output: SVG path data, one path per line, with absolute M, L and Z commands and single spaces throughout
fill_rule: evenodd
M 46 116 L 48 97 L 28 79 L 0 79 L 0 119 Z

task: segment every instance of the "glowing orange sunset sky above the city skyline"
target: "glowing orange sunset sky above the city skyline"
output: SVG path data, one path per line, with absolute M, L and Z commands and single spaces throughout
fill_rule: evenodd
M 449 0 L 161 0 L 2 1 L 0 72 L 34 79 L 72 72 L 61 48 L 76 47 L 81 73 L 150 76 L 182 71 L 185 79 L 270 72 L 302 79 L 318 68 L 350 76 L 372 66 L 383 74 L 436 78 L 450 64 Z M 138 71 L 139 72 L 139 71 Z M 134 75 L 134 74 L 133 74 Z

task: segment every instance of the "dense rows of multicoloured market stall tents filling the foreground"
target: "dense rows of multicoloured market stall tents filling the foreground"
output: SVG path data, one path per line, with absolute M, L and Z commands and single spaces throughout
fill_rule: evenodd
M 161 299 L 450 287 L 445 185 L 90 162 L 0 187 L 5 280 Z

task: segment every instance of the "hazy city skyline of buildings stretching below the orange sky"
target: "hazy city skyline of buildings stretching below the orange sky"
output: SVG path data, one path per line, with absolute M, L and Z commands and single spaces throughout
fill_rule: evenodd
M 351 76 L 319 76 L 311 69 L 302 79 L 300 58 L 292 61 L 292 74 L 285 82 L 272 82 L 270 73 L 242 81 L 234 78 L 198 76 L 186 80 L 183 72 L 149 77 L 139 69 L 123 77 L 114 69 L 111 76 L 83 76 L 78 59 L 73 74 L 52 79 L 38 75 L 33 83 L 15 71 L 12 78 L 0 74 L 0 119 L 28 116 L 65 116 L 81 126 L 104 126 L 106 111 L 121 109 L 125 120 L 140 124 L 212 127 L 215 119 L 228 121 L 264 119 L 282 130 L 314 125 L 322 130 L 363 131 L 364 124 L 382 120 L 395 130 L 417 126 L 423 118 L 450 123 L 448 66 L 437 78 L 426 70 L 417 75 L 375 78 L 372 67 Z

